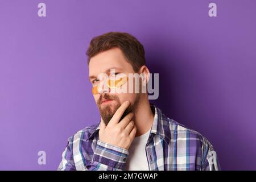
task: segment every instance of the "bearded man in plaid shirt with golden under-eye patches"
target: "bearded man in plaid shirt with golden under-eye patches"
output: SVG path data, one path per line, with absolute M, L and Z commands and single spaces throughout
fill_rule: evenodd
M 101 121 L 68 139 L 58 170 L 220 169 L 207 138 L 166 117 L 142 92 L 150 72 L 144 48 L 134 36 L 97 36 L 86 55 Z M 128 77 L 136 73 L 142 75 L 137 82 Z M 139 93 L 134 92 L 138 86 Z M 121 87 L 133 92 L 113 92 Z

